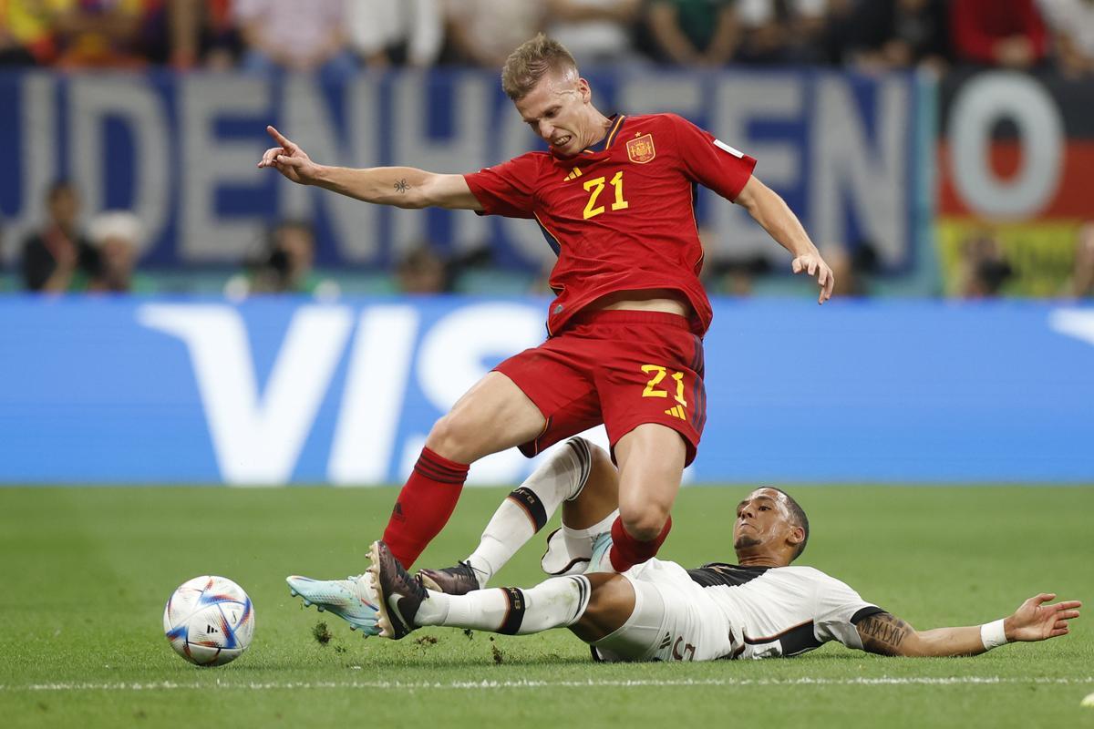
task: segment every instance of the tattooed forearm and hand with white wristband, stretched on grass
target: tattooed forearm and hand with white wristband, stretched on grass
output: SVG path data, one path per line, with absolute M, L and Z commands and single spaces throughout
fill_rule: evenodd
M 1045 604 L 1056 595 L 1040 593 L 1029 598 L 1003 619 L 1002 630 L 992 639 L 996 624 L 967 627 L 936 627 L 917 631 L 887 612 L 870 615 L 858 624 L 862 648 L 882 656 L 948 657 L 976 656 L 996 645 L 1016 640 L 1047 640 L 1068 634 L 1068 621 L 1079 618 L 1078 600 Z

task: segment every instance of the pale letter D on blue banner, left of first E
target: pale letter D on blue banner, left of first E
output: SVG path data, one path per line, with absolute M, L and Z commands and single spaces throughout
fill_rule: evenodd
M 85 196 L 85 210 L 106 207 L 107 160 L 104 126 L 120 118 L 132 134 L 133 199 L 128 209 L 143 225 L 147 239 L 155 239 L 167 224 L 168 187 L 173 165 L 168 154 L 166 109 L 151 84 L 128 74 L 79 75 L 69 85 L 69 139 L 74 178 Z

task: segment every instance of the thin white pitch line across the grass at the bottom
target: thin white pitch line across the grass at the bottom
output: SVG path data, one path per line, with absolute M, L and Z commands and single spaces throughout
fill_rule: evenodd
M 459 690 L 469 689 L 605 689 L 643 686 L 951 686 L 951 685 L 1003 685 L 1003 684 L 1094 684 L 1094 677 L 1084 678 L 1031 678 L 1021 679 L 999 675 L 954 675 L 954 677 L 878 677 L 857 679 L 627 679 L 589 681 L 267 681 L 216 683 L 156 681 L 152 683 L 32 683 L 26 685 L 0 685 L 0 692 L 20 691 L 177 691 L 177 690 L 247 690 L 267 691 L 279 689 L 372 689 L 384 691 Z

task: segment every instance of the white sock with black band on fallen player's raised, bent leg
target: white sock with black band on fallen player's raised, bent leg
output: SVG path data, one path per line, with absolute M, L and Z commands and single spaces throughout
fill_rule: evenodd
M 505 497 L 486 525 L 478 548 L 467 557 L 479 587 L 543 529 L 563 501 L 577 498 L 591 463 L 589 444 L 570 438 Z

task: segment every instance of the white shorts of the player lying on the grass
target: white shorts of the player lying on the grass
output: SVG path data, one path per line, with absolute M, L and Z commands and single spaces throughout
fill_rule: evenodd
M 593 643 L 604 661 L 714 660 L 732 655 L 725 614 L 675 562 L 649 560 L 622 573 L 635 587 L 635 611 Z

